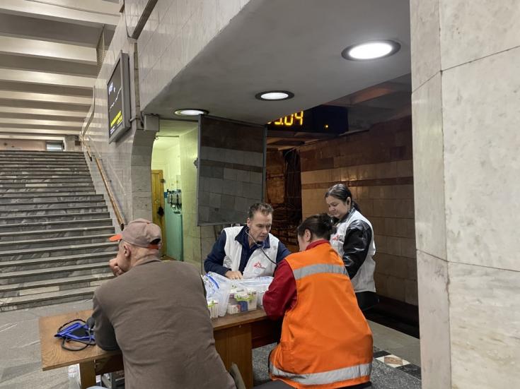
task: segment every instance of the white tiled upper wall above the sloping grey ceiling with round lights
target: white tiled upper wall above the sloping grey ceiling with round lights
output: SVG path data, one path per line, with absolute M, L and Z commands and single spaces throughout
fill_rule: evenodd
M 145 109 L 248 1 L 158 0 L 137 42 L 141 107 Z

